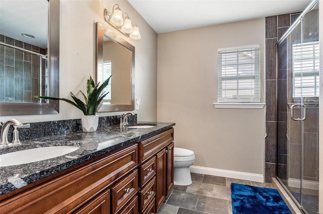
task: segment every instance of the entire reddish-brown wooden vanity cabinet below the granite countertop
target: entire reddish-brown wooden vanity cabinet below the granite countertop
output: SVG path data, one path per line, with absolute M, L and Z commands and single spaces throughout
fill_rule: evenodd
M 173 186 L 173 128 L 0 196 L 0 213 L 155 213 Z

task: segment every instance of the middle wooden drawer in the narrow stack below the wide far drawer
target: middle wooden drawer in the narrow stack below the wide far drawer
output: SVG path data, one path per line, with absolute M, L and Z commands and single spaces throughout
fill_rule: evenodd
M 139 191 L 140 211 L 144 210 L 156 195 L 156 177 L 153 177 L 145 187 Z

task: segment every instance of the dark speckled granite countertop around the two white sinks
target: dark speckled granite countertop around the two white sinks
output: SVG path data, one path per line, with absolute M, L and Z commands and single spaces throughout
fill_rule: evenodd
M 22 141 L 22 145 L 19 146 L 1 148 L 0 155 L 47 146 L 79 147 L 79 149 L 74 152 L 56 158 L 21 165 L 0 167 L 0 195 L 26 186 L 107 152 L 127 146 L 157 132 L 168 130 L 175 125 L 175 123 L 149 122 L 138 122 L 137 124 L 156 124 L 157 126 L 143 129 L 130 129 L 127 127 L 122 129 L 120 126 L 108 126 L 99 128 L 96 132 L 75 132 L 66 135 L 26 140 Z

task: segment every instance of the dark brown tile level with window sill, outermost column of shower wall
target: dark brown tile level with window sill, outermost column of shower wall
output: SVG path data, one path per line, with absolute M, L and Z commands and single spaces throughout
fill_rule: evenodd
M 276 121 L 276 80 L 266 80 L 266 121 Z

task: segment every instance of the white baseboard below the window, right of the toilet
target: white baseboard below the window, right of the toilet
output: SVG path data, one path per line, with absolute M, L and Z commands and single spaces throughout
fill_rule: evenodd
M 238 172 L 238 171 L 231 171 L 231 170 L 224 170 L 224 169 L 214 169 L 214 168 L 208 168 L 208 167 L 202 167 L 202 166 L 190 166 L 190 171 L 194 173 L 199 173 L 199 174 L 215 175 L 215 176 L 221 176 L 221 177 L 263 182 L 262 174 Z

